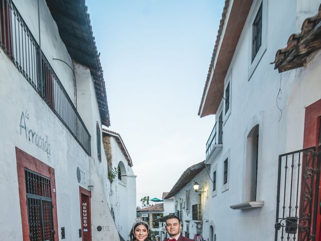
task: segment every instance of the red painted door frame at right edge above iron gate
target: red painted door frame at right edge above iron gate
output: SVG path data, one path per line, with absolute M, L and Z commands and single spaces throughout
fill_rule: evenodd
M 305 107 L 305 118 L 304 118 L 304 135 L 303 135 L 303 148 L 317 147 L 320 130 L 320 116 L 321 116 L 321 99 Z M 319 151 L 319 150 L 317 150 Z M 321 180 L 321 178 L 320 178 Z M 318 192 L 321 191 L 321 183 L 319 183 Z M 318 200 L 315 200 L 315 192 L 313 193 L 314 201 L 320 203 L 321 195 L 318 195 Z M 320 208 L 317 205 L 318 209 Z M 313 210 L 312 210 L 313 213 Z M 315 217 L 312 217 L 312 220 Z M 312 223 L 312 222 L 311 222 Z M 321 215 L 317 211 L 316 215 L 316 230 L 315 230 L 315 241 L 321 240 Z

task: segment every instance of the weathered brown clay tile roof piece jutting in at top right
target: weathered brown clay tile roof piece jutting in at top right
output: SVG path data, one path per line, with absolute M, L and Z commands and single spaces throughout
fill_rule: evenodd
M 287 46 L 276 52 L 274 69 L 283 72 L 301 67 L 307 57 L 318 49 L 321 49 L 321 4 L 317 15 L 305 19 L 301 32 L 292 34 Z

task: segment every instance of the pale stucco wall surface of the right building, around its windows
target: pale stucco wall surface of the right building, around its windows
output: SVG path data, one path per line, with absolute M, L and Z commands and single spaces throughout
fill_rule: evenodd
M 321 74 L 320 52 L 315 53 L 306 66 L 282 74 L 270 64 L 276 50 L 285 47 L 288 37 L 298 30 L 297 19 L 301 20 L 301 26 L 303 19 L 315 14 L 320 4 L 319 1 L 309 1 L 311 5 L 307 7 L 303 2 L 268 1 L 266 51 L 251 77 L 247 59 L 251 56 L 252 23 L 248 19 L 228 70 L 232 75 L 231 114 L 223 117 L 223 148 L 214 160 L 208 160 L 211 174 L 217 167 L 217 195 L 209 198 L 209 223 L 214 226 L 218 240 L 274 238 L 278 156 L 302 149 L 304 107 L 321 98 L 316 87 L 320 85 L 317 77 Z M 253 7 L 256 3 L 253 2 L 249 18 L 255 14 Z M 264 205 L 256 209 L 233 210 L 230 205 L 249 201 L 245 200 L 246 137 L 256 124 L 260 126 L 261 147 L 258 153 L 257 201 L 264 201 Z M 224 191 L 223 162 L 228 152 L 229 187 Z

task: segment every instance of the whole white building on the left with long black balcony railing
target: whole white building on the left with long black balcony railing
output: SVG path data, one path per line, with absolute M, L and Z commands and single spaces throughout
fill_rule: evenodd
M 4 240 L 119 240 L 99 55 L 84 1 L 62 2 L 0 0 Z

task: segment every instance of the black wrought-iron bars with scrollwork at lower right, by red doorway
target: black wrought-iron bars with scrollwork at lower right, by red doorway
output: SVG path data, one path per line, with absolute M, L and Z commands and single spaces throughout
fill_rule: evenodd
M 315 240 L 319 182 L 315 149 L 279 156 L 275 241 Z

